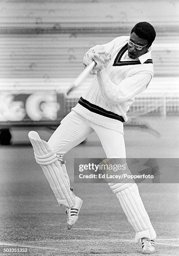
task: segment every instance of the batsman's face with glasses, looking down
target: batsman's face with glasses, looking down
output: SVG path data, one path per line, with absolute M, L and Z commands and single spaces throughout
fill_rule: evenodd
M 146 45 L 145 47 L 142 48 L 142 50 L 138 50 L 136 49 L 136 46 L 130 46 L 128 44 L 128 56 L 129 58 L 131 59 L 137 59 L 138 57 L 140 57 L 141 55 L 145 54 L 148 50 L 148 41 L 146 39 L 143 39 L 143 38 L 140 38 L 136 35 L 135 32 L 133 32 L 131 35 L 130 35 L 130 41 L 132 41 L 134 44 L 138 44 L 140 46 L 144 46 Z

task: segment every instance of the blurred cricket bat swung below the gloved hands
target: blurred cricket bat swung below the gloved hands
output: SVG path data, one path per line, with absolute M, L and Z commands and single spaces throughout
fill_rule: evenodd
M 68 95 L 72 90 L 74 90 L 76 87 L 79 86 L 79 84 L 81 84 L 84 79 L 90 74 L 90 71 L 95 67 L 95 61 L 92 61 L 84 70 L 81 74 L 79 74 L 79 76 L 74 80 L 74 82 L 72 83 L 72 86 L 70 87 L 70 89 L 66 92 L 66 94 Z

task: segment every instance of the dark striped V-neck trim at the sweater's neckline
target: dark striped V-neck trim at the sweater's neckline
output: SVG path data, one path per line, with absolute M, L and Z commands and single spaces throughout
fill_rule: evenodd
M 137 65 L 137 64 L 141 64 L 141 62 L 138 61 L 121 61 L 120 59 L 122 58 L 123 54 L 125 53 L 125 51 L 127 51 L 128 49 L 128 43 L 125 44 L 125 46 L 123 46 L 120 51 L 118 52 L 115 61 L 113 63 L 113 66 L 126 66 L 126 65 Z M 148 64 L 148 63 L 153 63 L 152 59 L 147 59 L 143 64 Z

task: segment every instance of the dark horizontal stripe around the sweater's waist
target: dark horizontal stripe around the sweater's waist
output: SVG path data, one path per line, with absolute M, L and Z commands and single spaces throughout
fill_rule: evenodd
M 124 118 L 121 115 L 105 110 L 104 108 L 100 108 L 99 106 L 92 104 L 87 100 L 84 100 L 82 97 L 80 97 L 78 103 L 93 113 L 96 113 L 98 115 L 103 115 L 105 117 L 112 118 L 115 120 L 119 120 L 122 123 L 125 122 Z

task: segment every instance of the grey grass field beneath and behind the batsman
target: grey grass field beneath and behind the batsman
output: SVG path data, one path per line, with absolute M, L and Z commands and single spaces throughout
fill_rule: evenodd
M 160 138 L 125 128 L 130 158 L 178 157 L 177 118 L 145 118 Z M 79 220 L 66 228 L 64 207 L 59 207 L 43 172 L 33 158 L 28 130 L 13 133 L 12 146 L 0 146 L 0 247 L 26 246 L 32 256 L 140 256 L 141 243 L 133 240 L 117 197 L 107 184 L 74 184 L 74 158 L 102 158 L 96 135 L 65 156 L 76 195 L 83 199 Z M 50 133 L 41 130 L 41 137 Z M 168 170 L 170 172 L 170 170 Z M 176 182 L 178 182 L 176 180 Z M 139 184 L 144 205 L 157 233 L 154 256 L 178 256 L 178 184 Z M 26 255 L 26 254 L 0 254 Z

